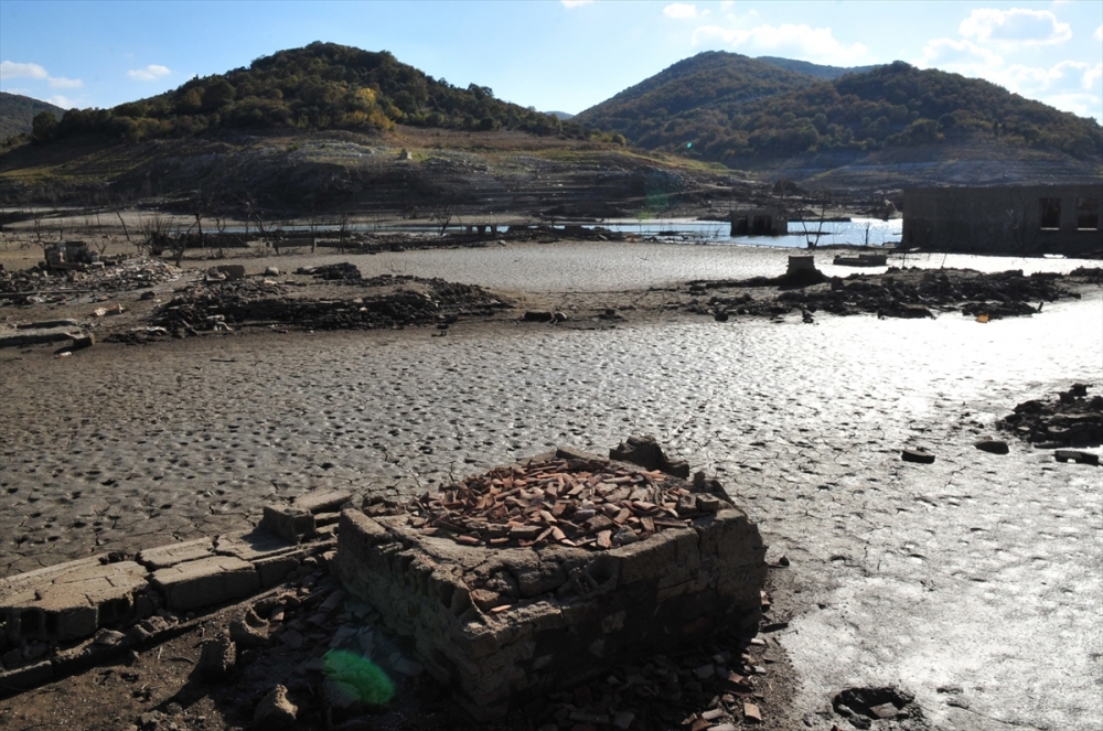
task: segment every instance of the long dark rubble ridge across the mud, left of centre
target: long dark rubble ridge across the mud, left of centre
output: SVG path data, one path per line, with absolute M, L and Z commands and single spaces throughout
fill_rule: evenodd
M 243 324 L 279 324 L 299 330 L 447 326 L 461 316 L 491 315 L 508 307 L 480 287 L 442 279 L 390 276 L 350 279 L 345 276 L 335 283 L 355 284 L 365 290 L 378 290 L 378 293 L 314 299 L 296 297 L 290 286 L 272 280 L 208 281 L 184 290 L 168 302 L 154 315 L 153 324 L 165 327 L 176 337 L 202 331 L 233 330 Z

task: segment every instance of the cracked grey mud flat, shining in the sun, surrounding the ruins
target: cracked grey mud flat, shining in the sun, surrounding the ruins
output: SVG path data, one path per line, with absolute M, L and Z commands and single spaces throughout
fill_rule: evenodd
M 0 571 L 247 527 L 266 501 L 312 488 L 405 495 L 557 443 L 600 451 L 654 433 L 727 485 L 771 561 L 792 561 L 774 599 L 790 622 L 790 719 L 846 728 L 828 712 L 834 692 L 896 684 L 932 728 L 1099 728 L 1099 467 L 1015 441 L 1004 456 L 972 445 L 1027 398 L 1074 381 L 1099 393 L 1099 291 L 984 325 L 656 314 L 664 288 L 777 275 L 788 254 L 566 244 L 363 256 L 365 276 L 440 276 L 578 316 L 461 323 L 447 337 L 215 335 L 61 359 L 8 348 Z M 941 262 L 1081 264 L 909 265 Z M 591 316 L 603 307 L 624 320 Z M 935 463 L 900 461 L 917 445 Z

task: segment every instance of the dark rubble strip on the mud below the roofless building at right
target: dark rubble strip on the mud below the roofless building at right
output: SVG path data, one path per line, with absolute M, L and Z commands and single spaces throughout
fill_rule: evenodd
M 1079 272 L 1079 273 L 1077 273 Z M 1079 269 L 1072 279 L 1091 279 L 1091 270 Z M 769 299 L 750 293 L 715 294 L 695 301 L 692 312 L 702 314 L 778 315 L 795 310 L 850 315 L 876 313 L 884 318 L 931 318 L 934 311 L 960 309 L 970 316 L 989 320 L 1040 312 L 1045 302 L 1079 299 L 1060 282 L 1064 276 L 1021 270 L 985 275 L 971 270 L 939 271 L 890 267 L 884 275 L 854 273 L 846 279 L 833 277 L 826 287 L 794 288 Z M 715 289 L 749 289 L 778 286 L 777 278 L 689 282 L 689 293 L 705 295 Z

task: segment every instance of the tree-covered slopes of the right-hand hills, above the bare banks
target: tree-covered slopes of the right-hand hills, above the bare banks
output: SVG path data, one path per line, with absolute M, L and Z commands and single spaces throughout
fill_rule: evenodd
M 700 56 L 690 61 L 697 58 Z M 577 119 L 623 132 L 630 142 L 644 148 L 679 151 L 736 166 L 808 153 L 855 157 L 918 146 L 924 146 L 928 157 L 939 157 L 939 150 L 952 155 L 959 143 L 967 143 L 974 153 L 978 146 L 982 153 L 987 146 L 1064 153 L 1082 161 L 1103 155 L 1103 130 L 1095 120 L 1025 99 L 988 82 L 921 71 L 899 61 L 831 80 L 754 63 L 772 73 L 758 82 L 748 79 L 745 86 L 725 87 L 735 88 L 733 93 L 718 93 L 709 99 L 696 84 L 695 88 L 679 89 L 678 79 L 667 69 L 633 87 L 656 88 L 657 84 L 650 96 L 635 95 L 634 117 L 606 111 L 624 107 L 615 104 L 622 96 L 618 95 Z M 778 73 L 790 76 L 779 77 Z M 785 84 L 795 88 L 782 88 Z M 779 88 L 765 94 L 771 86 Z M 752 88 L 763 93 L 748 93 Z M 663 98 L 683 94 L 696 103 L 672 111 L 661 103 L 658 89 Z

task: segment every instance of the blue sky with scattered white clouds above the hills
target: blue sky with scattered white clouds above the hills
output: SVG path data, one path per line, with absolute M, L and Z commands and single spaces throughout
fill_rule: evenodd
M 902 60 L 1103 120 L 1103 2 L 0 0 L 0 88 L 109 107 L 312 41 L 578 112 L 702 51 Z

